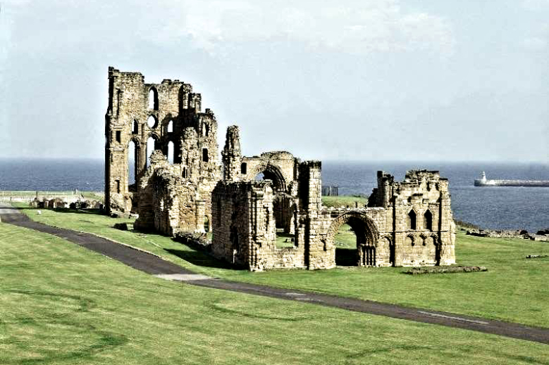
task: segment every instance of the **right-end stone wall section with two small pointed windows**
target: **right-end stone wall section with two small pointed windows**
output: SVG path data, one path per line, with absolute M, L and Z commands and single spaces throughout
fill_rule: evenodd
M 456 262 L 448 180 L 441 178 L 438 171 L 408 171 L 401 182 L 379 171 L 369 207 L 386 210 L 382 232 L 394 242 L 396 266 Z

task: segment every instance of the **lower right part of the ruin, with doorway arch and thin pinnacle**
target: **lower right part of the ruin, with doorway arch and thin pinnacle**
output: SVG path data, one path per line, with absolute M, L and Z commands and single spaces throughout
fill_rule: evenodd
M 287 152 L 245 158 L 239 138 L 238 128 L 229 127 L 222 152 L 224 181 L 213 190 L 217 257 L 250 270 L 333 268 L 336 234 L 348 224 L 357 238 L 358 266 L 455 263 L 448 181 L 438 171 L 408 171 L 398 183 L 380 171 L 368 207 L 328 209 L 321 201 L 320 162 L 299 162 Z M 255 181 L 261 172 L 269 179 Z M 279 194 L 292 202 L 283 206 L 285 216 L 292 217 L 290 248 L 276 245 Z

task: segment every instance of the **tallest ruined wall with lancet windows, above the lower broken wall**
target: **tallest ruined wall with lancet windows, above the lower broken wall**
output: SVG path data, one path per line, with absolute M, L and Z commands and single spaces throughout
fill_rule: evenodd
M 217 121 L 211 110 L 201 112 L 202 97 L 192 86 L 165 79 L 145 84 L 141 73 L 108 68 L 108 108 L 105 115 L 105 205 L 107 212 L 137 211 L 140 180 L 147 170 L 147 143 L 168 153 L 189 181 L 213 189 L 220 179 Z M 128 184 L 128 147 L 135 143 L 135 186 Z M 213 182 L 212 182 L 213 181 Z M 208 199 L 209 200 L 209 199 Z

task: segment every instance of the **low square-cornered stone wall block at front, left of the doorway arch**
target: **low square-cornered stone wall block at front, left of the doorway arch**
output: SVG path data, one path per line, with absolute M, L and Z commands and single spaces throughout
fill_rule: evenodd
M 307 168 L 312 166 L 316 165 L 303 162 L 299 167 L 307 176 Z M 277 247 L 276 195 L 272 181 L 220 181 L 213 190 L 212 199 L 213 255 L 250 270 L 307 268 L 305 239 L 311 231 L 307 211 L 303 210 L 298 217 L 294 247 Z M 316 262 L 315 265 L 323 266 Z

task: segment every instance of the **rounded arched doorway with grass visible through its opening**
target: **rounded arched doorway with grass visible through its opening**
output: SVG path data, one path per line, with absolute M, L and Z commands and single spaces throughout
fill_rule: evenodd
M 360 212 L 347 212 L 331 223 L 327 247 L 334 247 L 337 266 L 377 266 L 377 236 L 371 218 Z

